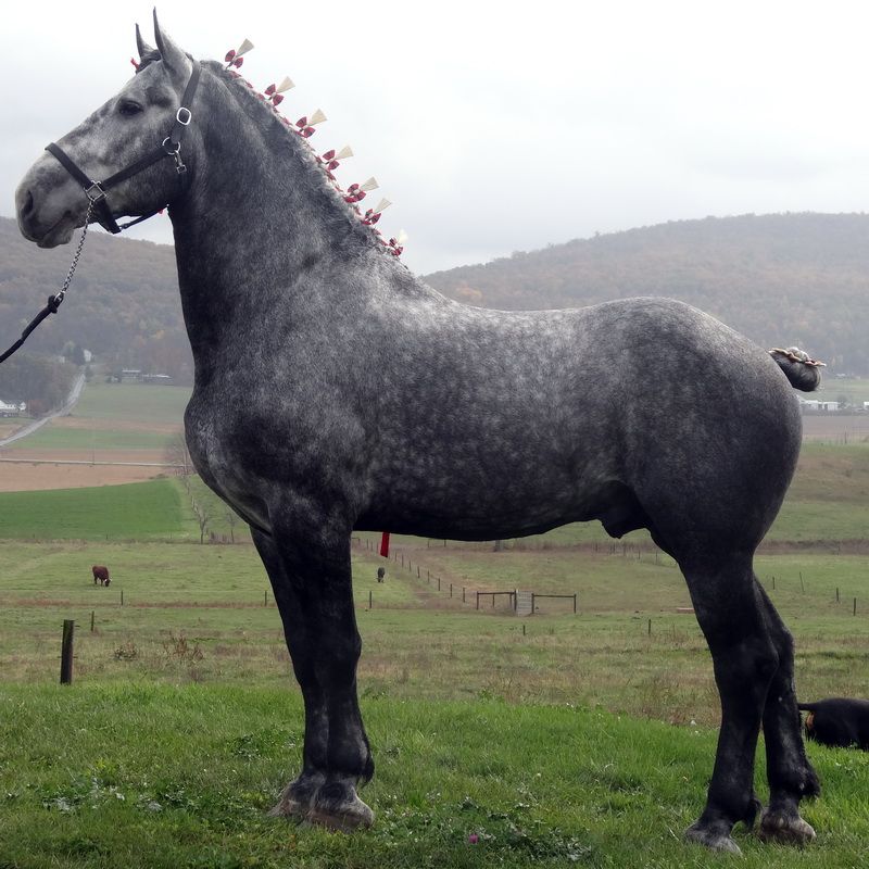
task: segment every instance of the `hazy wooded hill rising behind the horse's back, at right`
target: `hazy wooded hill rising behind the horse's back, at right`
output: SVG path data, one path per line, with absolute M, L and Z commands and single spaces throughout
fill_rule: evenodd
M 507 310 L 631 295 L 681 299 L 761 347 L 798 344 L 869 374 L 869 215 L 681 221 L 428 275 L 446 295 Z

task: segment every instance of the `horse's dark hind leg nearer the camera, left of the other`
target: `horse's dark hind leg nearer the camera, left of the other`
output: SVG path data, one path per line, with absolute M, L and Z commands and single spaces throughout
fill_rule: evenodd
M 713 656 L 721 700 L 715 767 L 701 817 L 685 837 L 739 853 L 733 827 L 753 827 L 760 803 L 754 761 L 767 692 L 779 656 L 756 594 L 751 556 L 705 554 L 680 564 Z

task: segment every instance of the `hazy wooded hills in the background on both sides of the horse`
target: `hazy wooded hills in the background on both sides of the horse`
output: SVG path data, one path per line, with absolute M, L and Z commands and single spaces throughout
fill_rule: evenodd
M 0 343 L 59 287 L 72 247 L 40 251 L 0 218 Z M 869 215 L 683 221 L 553 244 L 425 276 L 459 301 L 507 310 L 668 295 L 763 347 L 798 344 L 833 370 L 869 374 Z M 61 313 L 32 350 L 67 342 L 128 367 L 189 375 L 169 245 L 95 235 Z

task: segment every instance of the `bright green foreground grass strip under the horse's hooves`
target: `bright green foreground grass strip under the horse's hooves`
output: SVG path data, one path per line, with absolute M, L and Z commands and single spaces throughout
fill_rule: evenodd
M 363 703 L 377 763 L 353 835 L 265 817 L 300 764 L 285 690 L 188 685 L 0 688 L 0 866 L 684 867 L 716 734 L 600 710 L 498 702 Z M 818 842 L 764 845 L 746 867 L 857 867 L 869 836 L 861 754 L 813 751 Z M 763 753 L 758 760 L 763 785 Z M 476 843 L 469 836 L 476 836 Z

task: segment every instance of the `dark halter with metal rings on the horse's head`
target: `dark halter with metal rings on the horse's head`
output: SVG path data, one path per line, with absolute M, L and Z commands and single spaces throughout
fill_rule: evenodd
M 147 169 L 149 166 L 152 166 L 154 163 L 158 163 L 159 161 L 163 160 L 163 158 L 167 156 L 173 158 L 175 161 L 175 171 L 178 173 L 179 178 L 181 178 L 187 172 L 187 166 L 181 161 L 181 139 L 184 138 L 185 130 L 193 117 L 189 106 L 193 104 L 193 97 L 197 92 L 200 71 L 201 67 L 199 62 L 193 61 L 193 72 L 190 74 L 190 80 L 187 83 L 184 96 L 181 97 L 181 105 L 175 113 L 175 125 L 172 128 L 172 133 L 166 136 L 165 139 L 163 139 L 163 142 L 160 144 L 160 147 L 154 148 L 135 163 L 131 163 L 126 168 L 121 169 L 121 172 L 116 172 L 114 175 L 109 176 L 104 181 L 95 181 L 92 178 L 88 177 L 59 144 L 51 142 L 51 144 L 46 146 L 46 151 L 48 151 L 52 156 L 56 158 L 66 172 L 68 172 L 70 175 L 72 175 L 73 178 L 75 178 L 75 180 L 81 185 L 81 189 L 90 200 L 90 211 L 96 213 L 97 222 L 103 227 L 103 229 L 109 230 L 113 235 L 117 235 L 122 229 L 128 229 L 135 224 L 147 221 L 149 217 L 153 217 L 161 210 L 154 209 L 154 211 L 149 212 L 148 214 L 142 214 L 135 221 L 129 221 L 123 226 L 118 226 L 117 222 L 112 216 L 112 210 L 109 207 L 109 201 L 106 199 L 106 193 L 113 187 L 117 187 L 117 185 L 119 185 L 122 181 L 126 181 L 134 175 L 138 175 L 143 169 Z

